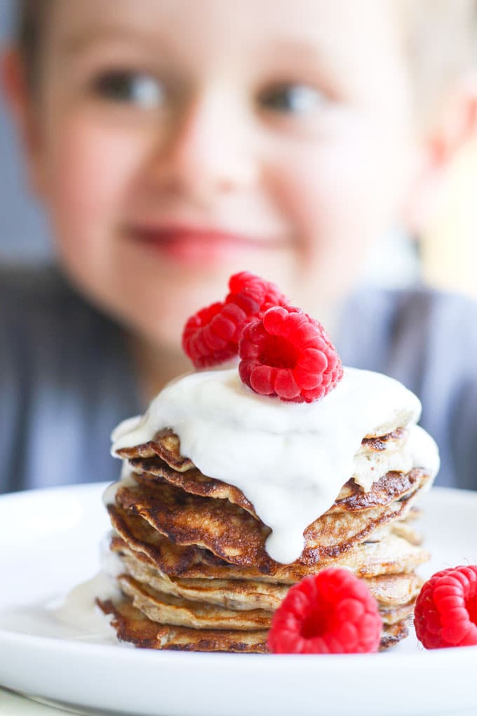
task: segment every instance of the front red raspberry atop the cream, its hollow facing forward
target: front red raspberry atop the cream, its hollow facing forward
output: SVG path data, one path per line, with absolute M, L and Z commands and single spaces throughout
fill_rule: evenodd
M 293 306 L 274 306 L 253 319 L 239 344 L 242 382 L 281 400 L 320 400 L 343 377 L 340 357 L 323 326 Z

